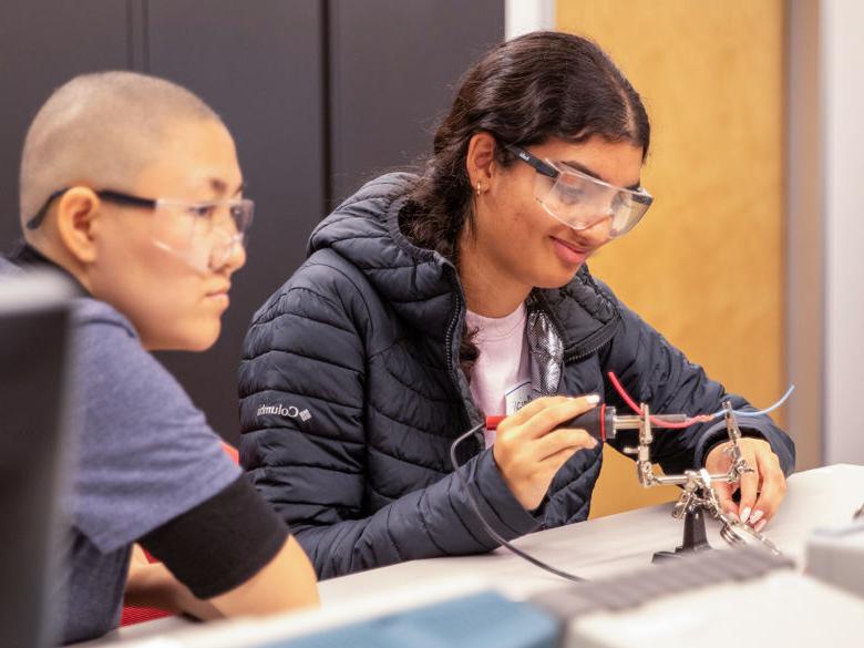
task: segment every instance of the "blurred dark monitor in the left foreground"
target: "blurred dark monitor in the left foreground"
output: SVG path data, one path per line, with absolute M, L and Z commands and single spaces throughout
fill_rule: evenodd
M 69 284 L 0 275 L 0 646 L 55 645 L 50 600 L 63 552 L 70 454 Z

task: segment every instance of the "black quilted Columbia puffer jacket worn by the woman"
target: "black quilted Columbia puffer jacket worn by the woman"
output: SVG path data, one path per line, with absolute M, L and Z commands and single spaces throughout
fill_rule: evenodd
M 309 258 L 255 313 L 239 370 L 240 459 L 288 522 L 320 578 L 433 556 L 490 551 L 449 449 L 481 413 L 459 369 L 465 301 L 455 268 L 411 245 L 398 216 L 414 182 L 385 175 L 315 230 Z M 613 370 L 654 412 L 712 412 L 727 397 L 700 367 L 617 301 L 586 268 L 528 299 L 536 395 L 605 394 Z M 731 397 L 736 407 L 747 407 Z M 789 474 L 791 440 L 747 419 Z M 723 423 L 658 433 L 667 472 L 701 465 Z M 460 446 L 461 469 L 505 538 L 588 516 L 601 452 L 577 452 L 529 514 L 491 450 Z

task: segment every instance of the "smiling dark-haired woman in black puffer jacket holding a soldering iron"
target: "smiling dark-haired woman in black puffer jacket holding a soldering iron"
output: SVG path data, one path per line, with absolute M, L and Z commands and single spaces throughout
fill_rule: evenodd
M 626 407 L 609 371 L 656 413 L 750 408 L 585 265 L 650 206 L 648 145 L 639 95 L 596 44 L 527 34 L 466 73 L 421 175 L 380 177 L 319 225 L 255 315 L 239 389 L 248 476 L 321 578 L 497 546 L 460 477 L 505 539 L 585 520 L 601 449 L 560 425 Z M 450 446 L 484 415 L 507 418 L 460 444 L 459 475 Z M 757 472 L 740 507 L 720 496 L 761 529 L 794 449 L 768 416 L 742 423 Z M 652 450 L 667 472 L 722 471 L 724 435 L 702 423 Z

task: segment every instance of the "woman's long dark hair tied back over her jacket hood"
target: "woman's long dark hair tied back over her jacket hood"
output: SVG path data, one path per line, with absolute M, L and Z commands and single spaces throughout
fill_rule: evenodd
M 650 125 L 639 94 L 594 42 L 573 34 L 534 32 L 487 52 L 462 80 L 435 133 L 433 154 L 411 194 L 400 228 L 414 245 L 459 267 L 459 237 L 472 217 L 465 166 L 471 137 L 495 137 L 502 166 L 515 156 L 502 144 L 527 146 L 551 137 L 584 142 L 595 135 L 631 142 L 648 154 Z M 471 379 L 479 357 L 463 328 L 460 364 Z

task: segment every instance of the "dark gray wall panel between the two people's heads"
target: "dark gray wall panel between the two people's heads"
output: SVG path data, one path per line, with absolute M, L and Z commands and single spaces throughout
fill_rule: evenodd
M 147 70 L 223 115 L 255 200 L 248 261 L 233 278 L 219 341 L 206 353 L 160 354 L 214 428 L 236 441 L 243 337 L 302 263 L 325 213 L 323 12 L 310 0 L 150 0 L 147 9 Z

